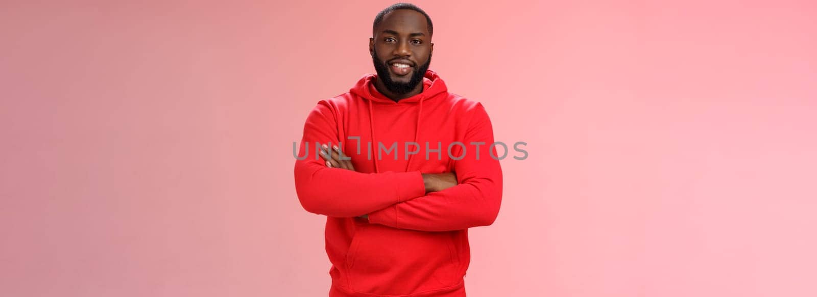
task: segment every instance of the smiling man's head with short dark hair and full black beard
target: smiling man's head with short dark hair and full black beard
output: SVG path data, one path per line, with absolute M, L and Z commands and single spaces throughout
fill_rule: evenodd
M 417 11 L 391 11 L 369 38 L 377 77 L 389 91 L 405 94 L 412 91 L 431 64 L 434 43 L 428 33 L 426 17 Z

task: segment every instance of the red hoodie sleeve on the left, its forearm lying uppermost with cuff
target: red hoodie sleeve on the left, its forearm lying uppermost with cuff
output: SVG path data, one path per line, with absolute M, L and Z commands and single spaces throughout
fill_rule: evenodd
M 419 171 L 360 173 L 327 167 L 324 159 L 317 155 L 316 145 L 337 144 L 340 138 L 337 126 L 333 107 L 326 100 L 320 101 L 306 117 L 295 162 L 295 190 L 306 211 L 353 217 L 425 193 Z

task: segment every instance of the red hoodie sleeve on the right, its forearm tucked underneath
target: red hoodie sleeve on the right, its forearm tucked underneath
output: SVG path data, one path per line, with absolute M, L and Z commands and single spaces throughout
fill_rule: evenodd
M 420 231 L 493 224 L 502 200 L 502 169 L 489 155 L 493 128 L 482 104 L 476 104 L 462 143 L 465 157 L 454 163 L 458 185 L 370 213 L 369 222 Z M 481 143 L 479 152 L 472 143 Z

